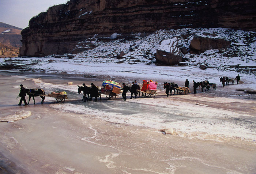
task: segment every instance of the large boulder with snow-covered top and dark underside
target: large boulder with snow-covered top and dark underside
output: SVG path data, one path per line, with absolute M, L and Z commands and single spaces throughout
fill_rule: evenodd
M 172 38 L 161 42 L 155 58 L 166 65 L 176 65 L 182 62 L 181 54 L 180 48 L 178 47 L 178 39 Z

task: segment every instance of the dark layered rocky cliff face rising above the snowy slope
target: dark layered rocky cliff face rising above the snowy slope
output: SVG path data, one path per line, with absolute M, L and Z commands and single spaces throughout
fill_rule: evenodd
M 255 9 L 255 0 L 70 0 L 30 20 L 20 55 L 69 53 L 79 40 L 113 33 L 132 39 L 166 28 L 256 30 Z

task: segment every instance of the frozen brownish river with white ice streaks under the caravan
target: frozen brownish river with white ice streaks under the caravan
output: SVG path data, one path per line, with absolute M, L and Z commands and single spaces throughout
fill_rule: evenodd
M 77 84 L 103 80 L 1 72 L 0 118 L 30 114 L 0 123 L 0 158 L 25 173 L 255 173 L 256 101 L 243 99 L 250 98 L 244 92 L 232 91 L 241 98 L 213 91 L 166 98 L 158 91 L 155 98 L 82 102 Z M 18 106 L 19 84 L 66 91 L 69 99 L 59 104 L 46 97 L 41 105 L 37 97 L 36 105 Z

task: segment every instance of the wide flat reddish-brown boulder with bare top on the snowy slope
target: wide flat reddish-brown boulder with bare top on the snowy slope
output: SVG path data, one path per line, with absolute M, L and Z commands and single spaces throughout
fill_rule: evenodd
M 231 41 L 221 38 L 210 38 L 196 35 L 190 42 L 190 48 L 197 54 L 210 49 L 230 48 Z

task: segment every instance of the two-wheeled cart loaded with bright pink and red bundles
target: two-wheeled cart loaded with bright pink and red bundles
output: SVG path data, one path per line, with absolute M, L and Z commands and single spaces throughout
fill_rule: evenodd
M 152 80 L 143 80 L 141 90 L 137 91 L 144 93 L 146 97 L 154 98 L 155 94 L 157 94 L 157 82 L 153 82 Z

